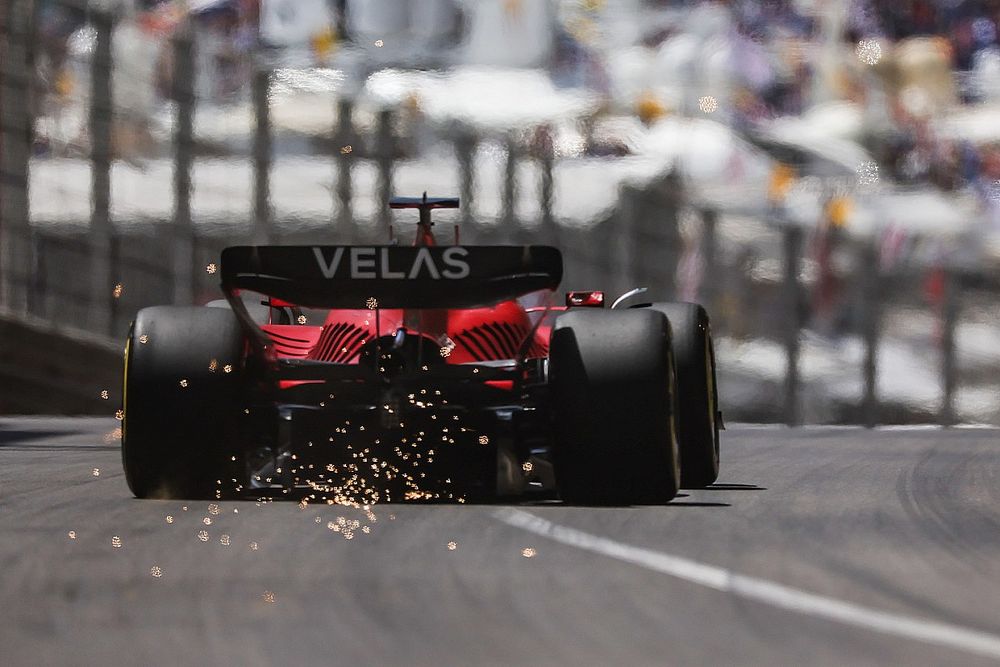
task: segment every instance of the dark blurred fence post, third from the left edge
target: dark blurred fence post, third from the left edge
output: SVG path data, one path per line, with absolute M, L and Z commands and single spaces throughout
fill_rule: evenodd
M 174 303 L 194 302 L 194 229 L 191 221 L 191 167 L 194 162 L 195 43 L 190 22 L 173 39 L 174 124 Z

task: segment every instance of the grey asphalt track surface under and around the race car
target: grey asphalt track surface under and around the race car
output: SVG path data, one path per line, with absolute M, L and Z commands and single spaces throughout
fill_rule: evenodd
M 373 518 L 135 500 L 115 426 L 0 419 L 4 665 L 1000 663 L 997 430 L 736 427 L 669 506 Z

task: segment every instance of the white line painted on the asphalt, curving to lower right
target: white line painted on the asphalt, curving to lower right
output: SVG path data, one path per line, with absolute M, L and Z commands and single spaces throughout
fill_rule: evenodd
M 541 535 L 584 551 L 609 556 L 626 563 L 662 572 L 740 598 L 787 609 L 801 614 L 853 625 L 873 632 L 916 639 L 929 644 L 979 653 L 1000 659 L 1000 636 L 948 623 L 937 623 L 816 595 L 766 579 L 757 579 L 731 570 L 670 554 L 615 542 L 552 523 L 517 509 L 497 510 L 494 517 L 507 525 Z

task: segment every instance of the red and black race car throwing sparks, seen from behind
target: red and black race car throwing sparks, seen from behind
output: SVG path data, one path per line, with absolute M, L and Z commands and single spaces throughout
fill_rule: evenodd
M 655 504 L 719 471 L 705 310 L 552 295 L 547 246 L 238 246 L 225 300 L 136 315 L 122 461 L 140 497 L 370 504 L 531 492 Z M 456 233 L 457 241 L 457 233 Z

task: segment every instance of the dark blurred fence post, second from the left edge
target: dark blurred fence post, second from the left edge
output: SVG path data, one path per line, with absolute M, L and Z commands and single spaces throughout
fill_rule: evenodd
M 96 33 L 90 63 L 90 275 L 89 326 L 111 333 L 111 302 L 115 284 L 111 266 L 111 160 L 114 102 L 111 89 L 111 38 L 114 20 L 108 12 L 93 12 Z

